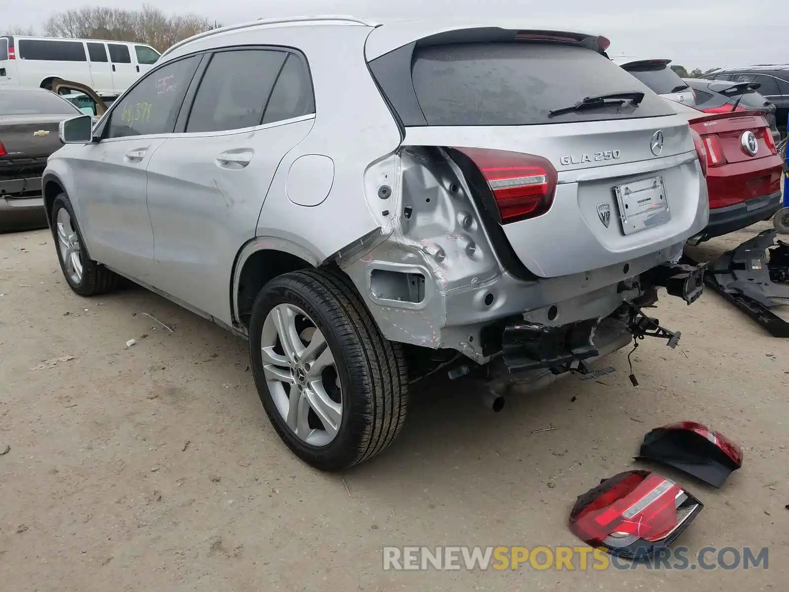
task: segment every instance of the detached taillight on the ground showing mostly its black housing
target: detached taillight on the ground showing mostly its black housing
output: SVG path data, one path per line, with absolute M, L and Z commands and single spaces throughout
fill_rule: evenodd
M 742 466 L 742 448 L 706 425 L 679 422 L 649 432 L 636 459 L 673 466 L 720 487 Z

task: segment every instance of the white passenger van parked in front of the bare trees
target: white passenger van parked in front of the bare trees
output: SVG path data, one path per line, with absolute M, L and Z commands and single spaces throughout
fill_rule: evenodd
M 50 88 L 62 78 L 117 96 L 158 59 L 159 52 L 144 43 L 0 36 L 0 88 Z

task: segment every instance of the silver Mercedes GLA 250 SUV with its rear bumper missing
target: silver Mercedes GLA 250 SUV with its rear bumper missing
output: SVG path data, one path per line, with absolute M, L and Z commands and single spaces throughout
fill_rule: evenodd
M 678 262 L 707 223 L 703 147 L 606 47 L 353 17 L 187 39 L 96 126 L 62 122 L 43 186 L 65 279 L 125 276 L 247 337 L 272 424 L 323 470 L 387 448 L 439 369 L 537 385 L 675 344 L 641 306 L 701 293 Z

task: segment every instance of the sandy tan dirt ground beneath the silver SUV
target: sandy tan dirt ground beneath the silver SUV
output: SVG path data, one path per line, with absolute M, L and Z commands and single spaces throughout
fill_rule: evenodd
M 642 342 L 638 388 L 629 348 L 499 414 L 433 386 L 383 455 L 321 474 L 267 422 L 245 342 L 140 288 L 80 298 L 46 230 L 0 235 L 0 589 L 786 590 L 789 344 L 709 291 L 655 316 L 682 342 Z M 578 545 L 576 496 L 684 419 L 745 466 L 720 490 L 666 471 L 705 504 L 678 544 L 767 546 L 768 569 L 383 571 L 383 545 Z

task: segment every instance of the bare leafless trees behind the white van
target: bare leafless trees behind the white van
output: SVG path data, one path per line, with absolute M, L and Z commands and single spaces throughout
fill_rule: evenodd
M 215 28 L 208 19 L 196 14 L 168 17 L 153 6 L 123 10 L 104 6 L 85 6 L 66 10 L 47 19 L 44 32 L 53 37 L 83 37 L 148 43 L 159 51 L 181 39 Z

